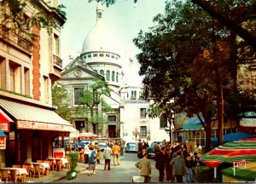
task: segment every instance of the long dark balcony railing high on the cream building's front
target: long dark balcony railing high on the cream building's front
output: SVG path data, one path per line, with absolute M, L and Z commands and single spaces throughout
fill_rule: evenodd
M 0 25 L 0 38 L 1 37 L 3 40 L 8 41 L 9 43 L 15 43 L 22 49 L 26 49 L 26 51 L 30 53 L 32 52 L 32 42 Z

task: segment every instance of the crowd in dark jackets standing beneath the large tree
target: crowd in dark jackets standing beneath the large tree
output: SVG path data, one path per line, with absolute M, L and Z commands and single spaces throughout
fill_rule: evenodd
M 139 158 L 135 164 L 141 170 L 141 176 L 144 176 L 144 181 L 150 181 L 151 164 L 148 159 L 148 153 L 145 148 L 142 150 L 143 158 Z M 166 180 L 174 182 L 194 182 L 194 175 L 192 168 L 200 165 L 202 150 L 197 143 L 194 147 L 189 147 L 189 151 L 185 144 L 179 142 L 166 143 L 164 140 L 162 144 L 156 142 L 154 145 L 155 153 L 155 168 L 159 170 L 159 181 L 164 181 L 166 173 Z

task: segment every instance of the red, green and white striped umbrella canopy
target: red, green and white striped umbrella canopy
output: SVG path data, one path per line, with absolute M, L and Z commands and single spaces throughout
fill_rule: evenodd
M 215 147 L 202 156 L 202 162 L 208 167 L 218 167 L 221 163 L 234 161 L 256 161 L 256 138 L 225 143 Z

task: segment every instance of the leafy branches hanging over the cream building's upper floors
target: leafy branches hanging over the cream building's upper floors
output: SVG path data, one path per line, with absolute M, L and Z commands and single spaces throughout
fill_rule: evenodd
M 32 14 L 27 16 L 26 6 L 32 6 L 40 10 L 32 11 Z M 56 27 L 56 20 L 53 19 L 52 14 L 58 14 L 62 19 L 66 20 L 66 13 L 63 11 L 66 7 L 60 4 L 57 8 L 51 8 L 52 12 L 48 14 L 42 9 L 42 6 L 42 1 L 39 0 L 2 0 L 0 1 L 0 7 L 3 8 L 0 12 L 0 25 L 20 35 L 25 34 L 32 40 L 38 37 L 38 35 L 31 32 L 33 26 L 37 26 L 39 29 L 46 28 L 50 34 L 53 31 L 53 27 Z

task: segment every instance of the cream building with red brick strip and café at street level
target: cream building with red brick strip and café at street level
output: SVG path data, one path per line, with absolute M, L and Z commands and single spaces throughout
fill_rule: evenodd
M 50 33 L 32 26 L 36 39 L 0 25 L 0 128 L 6 135 L 1 168 L 49 157 L 55 138 L 68 135 L 72 127 L 51 102 L 52 83 L 61 78 L 61 26 L 66 21 L 57 5 L 56 0 L 39 0 L 37 6 L 26 2 L 25 17 L 40 12 L 55 21 Z M 8 9 L 1 7 L 4 13 Z

